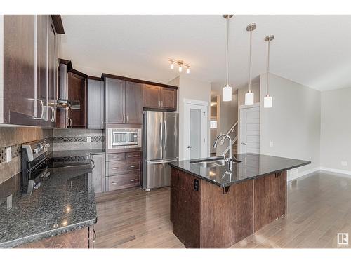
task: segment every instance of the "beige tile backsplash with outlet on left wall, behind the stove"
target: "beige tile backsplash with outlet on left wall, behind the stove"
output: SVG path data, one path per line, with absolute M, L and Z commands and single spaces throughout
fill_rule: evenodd
M 0 184 L 22 169 L 21 145 L 51 138 L 53 130 L 42 128 L 0 127 Z M 6 148 L 11 147 L 12 160 L 6 163 Z

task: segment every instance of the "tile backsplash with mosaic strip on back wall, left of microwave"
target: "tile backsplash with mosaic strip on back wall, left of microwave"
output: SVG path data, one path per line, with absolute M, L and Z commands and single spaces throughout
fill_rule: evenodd
M 87 142 L 90 137 L 91 142 Z M 105 135 L 95 129 L 54 129 L 53 151 L 102 149 Z

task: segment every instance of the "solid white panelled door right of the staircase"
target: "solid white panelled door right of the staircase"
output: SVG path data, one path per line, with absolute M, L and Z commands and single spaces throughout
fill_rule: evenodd
M 240 107 L 239 153 L 260 153 L 260 105 Z

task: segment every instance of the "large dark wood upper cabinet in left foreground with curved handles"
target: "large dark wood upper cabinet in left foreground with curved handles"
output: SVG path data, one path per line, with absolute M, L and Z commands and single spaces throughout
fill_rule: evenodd
M 55 36 L 51 15 L 0 15 L 0 123 L 55 126 Z

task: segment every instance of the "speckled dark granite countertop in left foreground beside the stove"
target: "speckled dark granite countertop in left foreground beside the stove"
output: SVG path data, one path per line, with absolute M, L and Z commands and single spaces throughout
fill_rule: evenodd
M 11 248 L 97 222 L 91 169 L 50 168 L 32 194 L 13 193 L 13 207 L 0 205 L 0 248 Z

